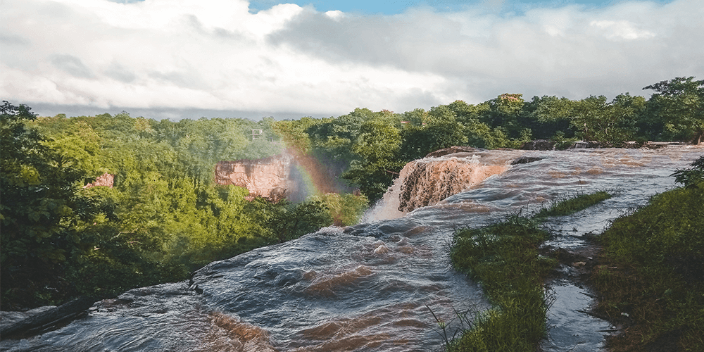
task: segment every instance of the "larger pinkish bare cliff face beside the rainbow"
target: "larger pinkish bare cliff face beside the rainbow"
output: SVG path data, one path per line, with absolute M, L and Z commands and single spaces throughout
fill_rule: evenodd
M 215 165 L 215 183 L 245 187 L 252 197 L 277 201 L 294 192 L 292 165 L 293 158 L 286 154 L 256 160 L 220 161 Z

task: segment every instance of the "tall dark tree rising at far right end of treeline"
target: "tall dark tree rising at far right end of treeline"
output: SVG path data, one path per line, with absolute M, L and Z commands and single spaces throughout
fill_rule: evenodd
M 704 138 L 704 80 L 676 77 L 643 89 L 653 89 L 648 106 L 665 121 L 665 129 L 680 139 L 700 144 Z

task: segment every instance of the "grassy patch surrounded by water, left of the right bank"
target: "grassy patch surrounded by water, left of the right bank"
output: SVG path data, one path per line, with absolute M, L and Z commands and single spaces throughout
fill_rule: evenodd
M 543 280 L 554 260 L 538 256 L 548 238 L 538 222 L 513 215 L 505 222 L 455 234 L 455 268 L 482 282 L 494 308 L 477 316 L 448 351 L 534 351 L 546 334 Z

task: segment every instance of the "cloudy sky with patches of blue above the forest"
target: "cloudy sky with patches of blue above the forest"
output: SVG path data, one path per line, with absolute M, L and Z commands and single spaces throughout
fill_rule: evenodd
M 704 0 L 0 0 L 39 115 L 298 119 L 704 78 Z

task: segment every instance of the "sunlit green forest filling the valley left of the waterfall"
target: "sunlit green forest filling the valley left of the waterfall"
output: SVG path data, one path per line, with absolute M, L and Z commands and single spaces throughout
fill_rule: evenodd
M 1 106 L 2 309 L 179 281 L 213 260 L 350 225 L 363 196 L 246 199 L 213 183 L 218 161 L 284 151 L 272 118 L 37 117 Z M 252 130 L 262 130 L 252 139 Z M 103 173 L 113 187 L 84 188 Z

